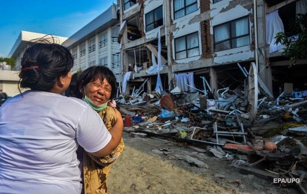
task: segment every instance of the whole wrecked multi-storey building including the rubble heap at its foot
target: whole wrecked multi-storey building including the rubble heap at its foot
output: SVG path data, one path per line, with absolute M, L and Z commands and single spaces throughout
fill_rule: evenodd
M 307 193 L 306 60 L 289 69 L 274 40 L 307 1 L 120 3 L 125 130 L 205 144 L 232 166 Z

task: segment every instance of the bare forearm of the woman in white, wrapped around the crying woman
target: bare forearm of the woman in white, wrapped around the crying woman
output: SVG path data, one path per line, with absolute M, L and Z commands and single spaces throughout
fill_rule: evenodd
M 124 122 L 123 122 L 123 119 L 121 117 L 121 113 L 117 109 L 114 109 L 114 111 L 115 111 L 115 114 L 116 114 L 116 122 L 115 122 L 114 126 L 109 130 L 112 138 L 111 138 L 110 142 L 104 148 L 102 148 L 98 152 L 91 153 L 94 156 L 103 157 L 103 156 L 106 156 L 108 154 L 111 154 L 112 151 L 118 146 L 118 144 L 121 140 Z

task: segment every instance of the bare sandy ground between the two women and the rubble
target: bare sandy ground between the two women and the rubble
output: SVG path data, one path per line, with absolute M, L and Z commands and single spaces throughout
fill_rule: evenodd
M 158 138 L 123 135 L 125 150 L 112 165 L 108 193 L 299 193 L 280 188 L 251 174 L 242 174 L 231 162 L 199 153 L 189 145 Z M 161 150 L 167 150 L 166 154 Z M 180 156 L 208 165 L 197 167 Z

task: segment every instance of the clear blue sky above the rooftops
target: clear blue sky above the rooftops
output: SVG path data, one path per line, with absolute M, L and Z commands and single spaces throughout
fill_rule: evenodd
M 0 57 L 7 57 L 21 31 L 69 37 L 116 0 L 0 0 Z

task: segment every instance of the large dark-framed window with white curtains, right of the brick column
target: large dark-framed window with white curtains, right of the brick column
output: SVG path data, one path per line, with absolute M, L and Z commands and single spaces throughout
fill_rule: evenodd
M 248 17 L 213 27 L 214 51 L 237 48 L 250 44 Z

